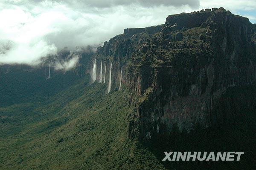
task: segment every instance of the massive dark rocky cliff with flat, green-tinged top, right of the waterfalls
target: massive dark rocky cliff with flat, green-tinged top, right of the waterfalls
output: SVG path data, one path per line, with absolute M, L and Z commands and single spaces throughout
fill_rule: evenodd
M 106 63 L 108 82 L 112 63 L 112 90 L 122 70 L 134 105 L 128 136 L 147 141 L 205 129 L 256 109 L 255 32 L 247 18 L 213 8 L 125 29 L 105 42 L 96 65 Z

